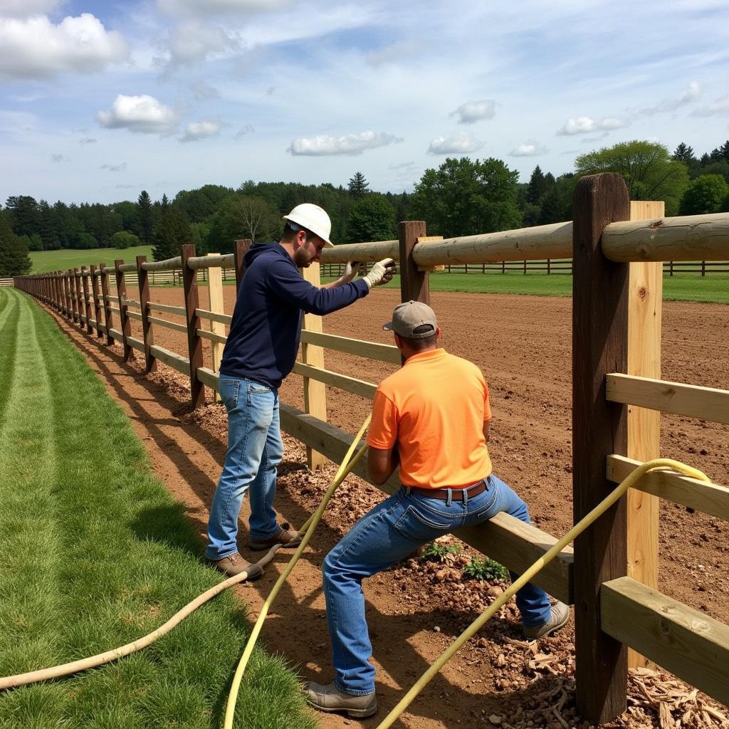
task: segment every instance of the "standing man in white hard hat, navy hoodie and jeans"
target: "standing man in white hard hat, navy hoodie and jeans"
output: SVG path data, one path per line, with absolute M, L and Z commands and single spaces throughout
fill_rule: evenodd
M 250 489 L 249 542 L 252 550 L 273 545 L 294 547 L 296 531 L 276 522 L 276 467 L 284 453 L 278 419 L 278 387 L 288 375 L 299 348 L 303 313 L 323 314 L 367 296 L 373 286 L 392 278 L 391 258 L 356 278 L 350 263 L 343 276 L 324 286 L 304 281 L 308 268 L 332 246 L 332 223 L 318 205 L 303 203 L 284 215 L 284 235 L 278 243 L 254 243 L 246 257 L 246 276 L 238 297 L 220 363 L 220 397 L 228 420 L 228 450 L 213 496 L 205 553 L 225 574 L 249 571 L 260 575 L 238 552 L 238 515 Z

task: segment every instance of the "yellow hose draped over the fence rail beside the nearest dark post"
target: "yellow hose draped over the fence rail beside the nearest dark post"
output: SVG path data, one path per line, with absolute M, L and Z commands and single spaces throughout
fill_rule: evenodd
M 669 468 L 674 471 L 682 472 L 691 478 L 701 481 L 710 481 L 709 477 L 698 469 L 671 459 L 654 459 L 652 461 L 647 461 L 636 468 L 630 475 L 628 475 L 627 478 L 625 478 L 625 480 L 623 480 L 622 483 L 620 483 L 619 486 L 615 488 L 614 491 L 609 494 L 609 496 L 607 496 L 606 499 L 604 499 L 604 501 L 600 502 L 588 513 L 588 515 L 582 517 L 582 519 L 580 519 L 580 521 L 578 521 L 572 529 L 570 529 L 543 557 L 539 557 L 539 559 L 534 562 L 534 564 L 532 564 L 531 567 L 529 567 L 529 569 L 527 569 L 526 572 L 518 578 L 518 580 L 512 583 L 508 590 L 489 605 L 489 607 L 486 608 L 486 610 L 484 610 L 481 615 L 479 615 L 476 620 L 474 620 L 473 623 L 471 623 L 471 625 L 469 625 L 468 628 L 466 628 L 466 630 L 464 630 L 463 633 L 461 633 L 461 635 L 459 635 L 458 638 L 456 638 L 456 640 L 454 640 L 453 643 L 451 643 L 451 645 L 440 654 L 435 663 L 433 663 L 433 665 L 418 679 L 416 684 L 408 691 L 408 693 L 400 699 L 397 706 L 395 706 L 394 709 L 387 714 L 383 721 L 377 725 L 376 729 L 389 729 L 389 727 L 397 721 L 399 715 L 402 714 L 408 706 L 410 706 L 410 703 L 418 695 L 418 693 L 420 693 L 426 685 L 428 685 L 430 680 L 438 674 L 440 669 L 445 666 L 445 663 L 448 663 L 448 660 L 451 660 L 453 655 L 461 648 L 461 646 L 483 627 L 487 620 L 493 617 L 501 607 L 507 604 L 512 596 L 517 593 L 518 590 L 521 590 L 521 588 L 523 588 L 523 586 L 526 585 L 526 583 L 529 582 L 529 580 L 531 580 L 531 578 L 534 577 L 534 575 L 537 574 L 542 567 L 549 564 L 564 549 L 564 547 L 574 541 L 575 537 L 582 534 L 582 531 L 585 531 L 585 529 L 590 526 L 596 518 L 609 509 L 612 504 L 615 504 L 617 499 L 620 499 L 620 496 L 623 496 L 625 491 L 628 491 L 628 488 L 631 488 L 631 486 L 633 486 L 634 483 L 636 483 L 636 481 L 644 475 L 644 473 L 656 468 Z

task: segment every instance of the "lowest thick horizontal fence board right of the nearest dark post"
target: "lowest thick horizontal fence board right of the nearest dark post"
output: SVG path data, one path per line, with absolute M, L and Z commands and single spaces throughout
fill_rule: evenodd
M 729 625 L 620 577 L 601 588 L 602 629 L 729 704 Z

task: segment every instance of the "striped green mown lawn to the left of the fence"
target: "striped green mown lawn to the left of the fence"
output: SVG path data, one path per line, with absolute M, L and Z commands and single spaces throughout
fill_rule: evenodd
M 15 289 L 0 289 L 0 443 L 1 676 L 130 642 L 221 580 L 122 410 Z M 223 593 L 142 652 L 1 692 L 0 728 L 217 728 L 248 629 Z M 283 660 L 254 655 L 235 726 L 316 726 Z

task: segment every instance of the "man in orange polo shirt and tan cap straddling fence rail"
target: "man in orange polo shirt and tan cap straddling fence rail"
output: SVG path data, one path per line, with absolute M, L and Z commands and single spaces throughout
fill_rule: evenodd
M 335 679 L 306 686 L 317 709 L 357 718 L 377 711 L 362 579 L 499 512 L 530 523 L 526 504 L 491 472 L 491 408 L 478 367 L 438 348 L 440 328 L 424 303 L 399 304 L 383 329 L 394 332 L 406 361 L 375 393 L 367 466 L 381 484 L 399 465 L 402 488 L 364 515 L 324 560 Z M 550 635 L 569 620 L 569 607 L 531 583 L 519 590 L 516 604 L 529 639 Z

